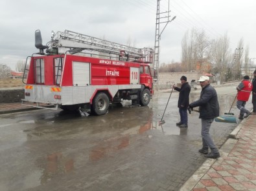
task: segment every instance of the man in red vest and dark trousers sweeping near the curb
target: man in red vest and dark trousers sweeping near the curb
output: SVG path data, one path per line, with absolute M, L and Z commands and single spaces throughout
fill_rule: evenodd
M 249 75 L 244 75 L 244 80 L 242 80 L 240 84 L 237 86 L 237 108 L 239 108 L 240 110 L 239 119 L 244 119 L 244 117 L 248 117 L 251 115 L 251 112 L 244 108 L 244 106 L 246 105 L 246 101 L 248 101 L 251 95 L 251 90 L 253 88 L 249 79 Z M 244 114 L 246 115 L 244 116 Z

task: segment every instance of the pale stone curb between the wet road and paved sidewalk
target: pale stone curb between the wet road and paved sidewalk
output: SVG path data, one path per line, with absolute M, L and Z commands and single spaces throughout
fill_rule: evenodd
M 185 182 L 185 184 L 181 186 L 180 191 L 192 190 L 194 186 L 196 186 L 196 184 L 200 181 L 200 179 L 206 174 L 206 172 L 211 168 L 216 160 L 222 160 L 222 157 L 226 157 L 229 155 L 229 152 L 231 152 L 231 150 L 238 141 L 237 134 L 242 128 L 242 125 L 244 125 L 244 121 L 246 121 L 246 119 L 242 120 L 242 122 L 237 125 L 237 127 L 231 132 L 231 134 L 229 134 L 227 141 L 221 146 L 219 150 L 221 157 L 218 159 L 206 159 L 202 166 L 200 166 L 200 168 L 198 168 L 198 170 L 194 172 L 194 174 Z

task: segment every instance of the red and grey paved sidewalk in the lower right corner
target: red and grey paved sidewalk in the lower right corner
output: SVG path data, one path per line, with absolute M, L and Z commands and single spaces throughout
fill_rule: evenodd
M 256 115 L 244 119 L 180 190 L 256 190 Z

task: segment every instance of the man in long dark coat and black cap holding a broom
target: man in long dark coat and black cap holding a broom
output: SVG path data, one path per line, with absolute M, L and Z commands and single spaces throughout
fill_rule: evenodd
M 178 108 L 180 112 L 180 122 L 176 123 L 177 126 L 187 127 L 187 107 L 189 106 L 189 94 L 191 92 L 191 86 L 187 83 L 187 77 L 184 75 L 180 78 L 181 88 L 172 86 L 174 90 L 180 92 L 178 99 Z

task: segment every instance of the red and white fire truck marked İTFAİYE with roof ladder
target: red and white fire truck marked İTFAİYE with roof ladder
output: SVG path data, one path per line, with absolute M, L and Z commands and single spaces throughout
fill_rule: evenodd
M 142 106 L 150 102 L 152 48 L 133 48 L 69 30 L 52 32 L 47 45 L 42 45 L 40 30 L 35 39 L 39 52 L 27 57 L 23 105 L 82 108 L 102 115 L 111 103 L 125 99 Z

